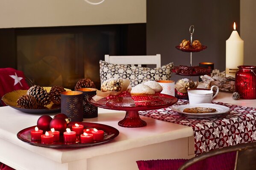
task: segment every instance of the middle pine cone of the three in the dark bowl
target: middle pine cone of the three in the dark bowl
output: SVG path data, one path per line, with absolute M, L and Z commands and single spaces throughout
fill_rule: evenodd
M 39 85 L 34 85 L 31 88 L 29 88 L 26 94 L 34 96 L 38 102 L 38 105 L 41 106 L 49 105 L 51 102 L 47 91 Z

